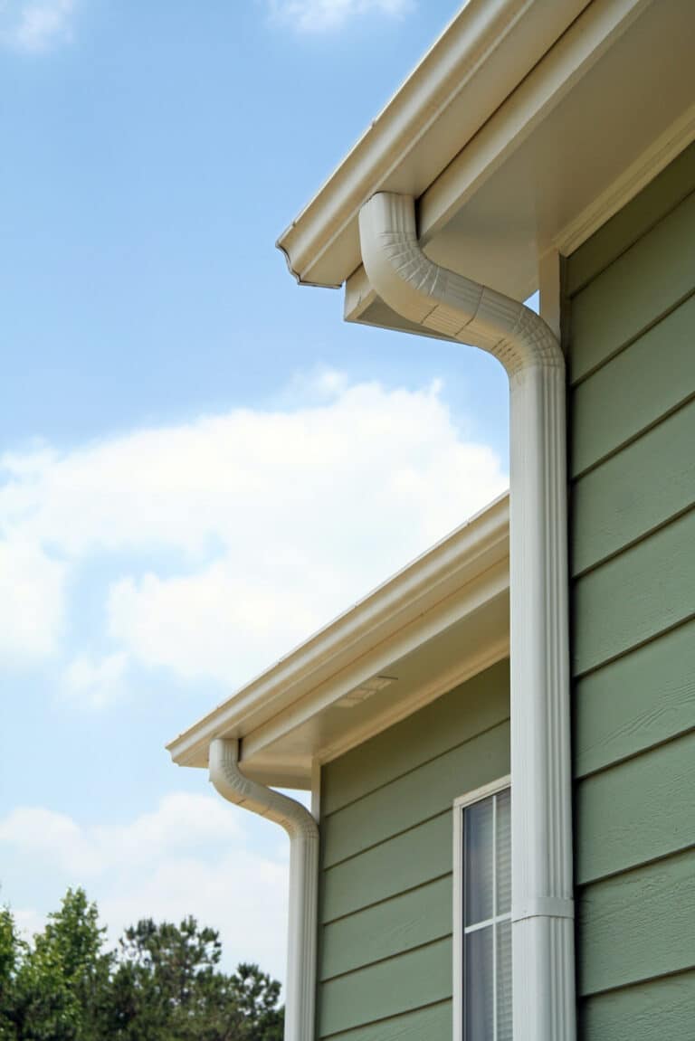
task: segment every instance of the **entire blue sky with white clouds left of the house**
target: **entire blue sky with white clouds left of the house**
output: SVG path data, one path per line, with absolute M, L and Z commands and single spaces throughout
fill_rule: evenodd
M 282 835 L 164 744 L 506 483 L 501 367 L 345 325 L 274 249 L 457 7 L 0 6 L 0 882 L 28 930 L 82 884 L 114 931 L 193 912 L 283 972 Z

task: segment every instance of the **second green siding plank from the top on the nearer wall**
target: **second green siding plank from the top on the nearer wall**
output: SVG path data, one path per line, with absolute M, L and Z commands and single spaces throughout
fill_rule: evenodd
M 586 377 L 695 288 L 695 194 L 572 301 L 570 377 Z

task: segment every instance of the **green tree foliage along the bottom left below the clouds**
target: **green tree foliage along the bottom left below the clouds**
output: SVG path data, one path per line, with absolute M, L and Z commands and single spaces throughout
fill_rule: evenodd
M 281 1041 L 280 985 L 220 969 L 219 934 L 146 918 L 106 951 L 96 904 L 69 889 L 32 944 L 0 910 L 0 1041 Z

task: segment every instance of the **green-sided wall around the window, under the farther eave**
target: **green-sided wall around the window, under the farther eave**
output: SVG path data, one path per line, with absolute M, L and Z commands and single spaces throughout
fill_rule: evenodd
M 318 1037 L 451 1041 L 452 803 L 508 716 L 503 661 L 323 767 Z

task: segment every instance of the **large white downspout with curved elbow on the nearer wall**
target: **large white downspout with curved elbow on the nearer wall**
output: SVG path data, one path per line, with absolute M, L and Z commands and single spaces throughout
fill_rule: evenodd
M 510 377 L 514 1038 L 574 1041 L 564 357 L 533 311 L 425 256 L 412 197 L 373 196 L 359 237 L 384 303 Z

